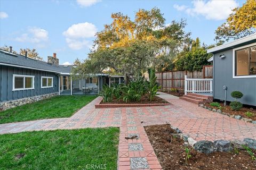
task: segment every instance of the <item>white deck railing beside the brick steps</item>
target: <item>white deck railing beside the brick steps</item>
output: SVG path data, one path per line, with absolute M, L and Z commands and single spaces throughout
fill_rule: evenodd
M 212 79 L 188 79 L 187 75 L 185 75 L 185 95 L 188 92 L 212 93 Z

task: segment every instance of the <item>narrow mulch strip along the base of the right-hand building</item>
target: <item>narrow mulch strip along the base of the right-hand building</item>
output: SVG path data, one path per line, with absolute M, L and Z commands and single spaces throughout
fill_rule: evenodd
M 239 111 L 232 111 L 230 106 L 228 106 L 228 105 L 224 106 L 223 103 L 220 103 L 220 105 L 221 105 L 221 111 L 222 112 L 225 112 L 229 115 L 240 115 L 242 117 L 251 118 L 253 121 L 256 121 L 256 109 L 250 109 L 250 108 L 247 108 L 247 107 L 242 107 Z M 205 104 L 205 106 L 210 107 L 210 108 L 215 108 L 215 109 L 218 110 L 218 107 L 213 107 L 210 104 Z M 247 116 L 245 114 L 246 112 L 253 113 L 253 116 L 251 116 L 251 117 Z

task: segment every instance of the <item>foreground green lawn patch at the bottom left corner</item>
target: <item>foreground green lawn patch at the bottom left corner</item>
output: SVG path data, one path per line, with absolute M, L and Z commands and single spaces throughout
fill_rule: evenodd
M 118 128 L 3 134 L 0 169 L 116 169 L 118 134 Z

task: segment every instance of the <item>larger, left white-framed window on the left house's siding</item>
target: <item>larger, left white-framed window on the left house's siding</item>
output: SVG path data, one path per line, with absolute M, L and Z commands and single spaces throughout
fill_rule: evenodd
M 35 76 L 34 75 L 20 75 L 13 74 L 12 79 L 12 90 L 30 90 L 34 89 L 35 84 Z

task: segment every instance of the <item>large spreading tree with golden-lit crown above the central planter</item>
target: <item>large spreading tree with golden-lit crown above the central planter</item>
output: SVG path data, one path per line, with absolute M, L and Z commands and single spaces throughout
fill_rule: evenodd
M 74 69 L 73 77 L 110 68 L 125 75 L 127 84 L 131 75 L 139 77 L 149 67 L 162 63 L 163 58 L 175 56 L 190 36 L 183 31 L 185 20 L 165 26 L 158 8 L 139 10 L 134 21 L 122 13 L 114 13 L 111 18 L 113 22 L 97 32 L 93 49 Z

